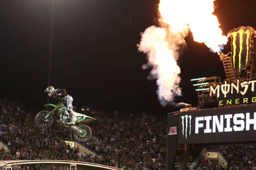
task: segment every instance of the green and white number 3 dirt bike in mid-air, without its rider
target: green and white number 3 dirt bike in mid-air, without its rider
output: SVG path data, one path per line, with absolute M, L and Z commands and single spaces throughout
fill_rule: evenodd
M 86 142 L 90 140 L 92 136 L 91 128 L 86 124 L 79 123 L 88 123 L 93 119 L 96 120 L 95 118 L 86 116 L 81 113 L 73 112 L 75 122 L 79 125 L 67 124 L 70 121 L 70 117 L 68 109 L 64 106 L 64 101 L 59 101 L 57 105 L 46 104 L 44 107 L 53 107 L 53 109 L 51 111 L 40 111 L 36 114 L 34 122 L 38 128 L 49 128 L 54 121 L 53 114 L 57 112 L 60 117 L 60 125 L 64 126 L 65 128 L 72 129 L 75 140 L 78 142 Z

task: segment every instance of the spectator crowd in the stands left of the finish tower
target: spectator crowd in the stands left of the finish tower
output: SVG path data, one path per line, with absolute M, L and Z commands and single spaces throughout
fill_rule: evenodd
M 73 132 L 60 126 L 58 117 L 50 128 L 41 130 L 34 125 L 36 112 L 21 108 L 20 101 L 0 99 L 0 140 L 10 148 L 1 148 L 0 160 L 73 160 L 125 170 L 165 169 L 165 118 L 143 113 L 120 121 L 117 111 L 108 118 L 106 112 L 86 109 L 97 119 L 88 124 L 91 140 L 83 143 L 99 155 L 94 157 L 66 145 L 64 139 L 74 140 Z

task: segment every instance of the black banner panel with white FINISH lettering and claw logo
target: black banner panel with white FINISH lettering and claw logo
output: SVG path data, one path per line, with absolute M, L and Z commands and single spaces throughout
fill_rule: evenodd
M 189 115 L 193 116 L 186 125 L 184 119 Z M 180 112 L 178 127 L 179 134 L 184 131 L 178 143 L 256 141 L 256 105 Z

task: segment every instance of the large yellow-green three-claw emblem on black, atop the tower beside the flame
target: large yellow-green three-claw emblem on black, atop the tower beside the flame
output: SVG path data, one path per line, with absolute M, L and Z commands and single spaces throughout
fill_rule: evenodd
M 231 37 L 232 58 L 234 70 L 240 72 L 247 67 L 250 58 L 251 36 L 255 30 L 252 27 L 239 27 L 228 33 Z

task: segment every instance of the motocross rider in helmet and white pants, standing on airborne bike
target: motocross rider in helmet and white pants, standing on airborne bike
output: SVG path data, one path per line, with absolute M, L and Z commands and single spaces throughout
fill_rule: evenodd
M 67 122 L 67 124 L 75 124 L 72 105 L 73 98 L 70 95 L 67 95 L 66 90 L 60 88 L 55 90 L 53 86 L 49 86 L 44 92 L 47 92 L 48 96 L 53 96 L 56 100 L 65 100 L 70 118 L 70 122 Z

